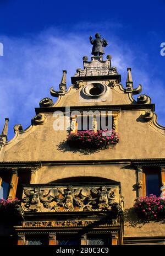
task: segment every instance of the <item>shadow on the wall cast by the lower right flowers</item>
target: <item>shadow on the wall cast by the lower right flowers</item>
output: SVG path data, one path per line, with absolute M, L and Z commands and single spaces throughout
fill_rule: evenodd
M 150 220 L 146 220 L 145 218 L 139 217 L 136 214 L 134 207 L 124 210 L 124 226 L 125 227 L 142 228 L 142 226 L 151 222 L 160 222 L 161 224 L 165 224 L 164 218 L 159 218 L 158 220 L 150 221 Z

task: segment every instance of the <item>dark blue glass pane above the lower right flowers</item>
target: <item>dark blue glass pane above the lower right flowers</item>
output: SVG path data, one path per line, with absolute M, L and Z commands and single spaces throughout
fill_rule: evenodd
M 146 195 L 160 196 L 160 184 L 158 174 L 146 174 Z

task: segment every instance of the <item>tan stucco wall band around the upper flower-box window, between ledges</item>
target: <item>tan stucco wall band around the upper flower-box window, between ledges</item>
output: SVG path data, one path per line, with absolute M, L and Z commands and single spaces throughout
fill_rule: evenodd
M 53 161 L 87 159 L 164 158 L 165 136 L 146 122 L 139 121 L 140 111 L 122 111 L 118 118 L 119 143 L 106 150 L 81 151 L 70 148 L 67 131 L 54 131 L 52 113 L 47 122 L 21 140 L 4 147 L 4 161 Z

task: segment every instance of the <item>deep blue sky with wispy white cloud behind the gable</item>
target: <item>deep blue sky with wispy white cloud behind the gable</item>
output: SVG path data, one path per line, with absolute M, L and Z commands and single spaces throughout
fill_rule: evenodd
M 9 139 L 15 124 L 29 126 L 40 100 L 58 89 L 62 70 L 69 87 L 82 57 L 91 56 L 89 36 L 96 32 L 108 40 L 105 56 L 112 55 L 123 86 L 131 67 L 134 87 L 142 84 L 165 126 L 164 13 L 165 0 L 0 0 L 0 129 L 5 117 Z

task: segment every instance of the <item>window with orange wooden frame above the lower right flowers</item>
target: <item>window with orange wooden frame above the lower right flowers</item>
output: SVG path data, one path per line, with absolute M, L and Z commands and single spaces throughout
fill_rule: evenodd
M 143 173 L 144 196 L 150 194 L 160 196 L 161 191 L 161 172 L 154 168 L 146 169 Z

